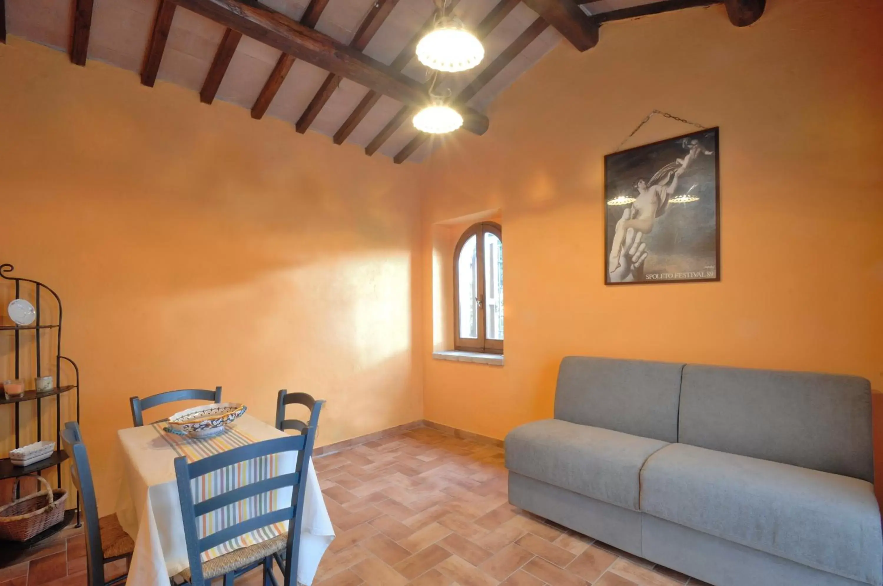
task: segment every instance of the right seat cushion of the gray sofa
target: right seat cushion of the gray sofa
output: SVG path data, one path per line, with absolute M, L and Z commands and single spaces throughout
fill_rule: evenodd
M 883 583 L 879 507 L 864 480 L 671 444 L 641 471 L 640 508 L 806 566 Z

